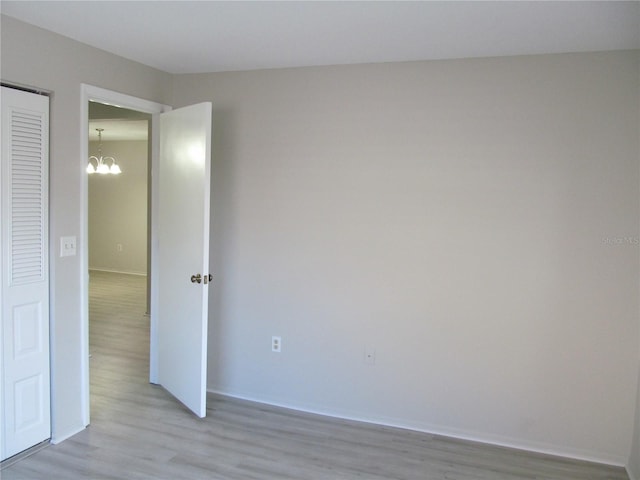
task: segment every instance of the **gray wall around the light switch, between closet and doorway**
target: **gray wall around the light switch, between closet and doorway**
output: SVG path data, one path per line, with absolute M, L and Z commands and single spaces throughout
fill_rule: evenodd
M 68 38 L 2 16 L 2 80 L 50 90 L 50 244 L 82 242 L 80 85 L 89 83 L 170 103 L 171 76 Z M 52 432 L 62 440 L 84 427 L 81 396 L 80 257 L 51 256 Z

